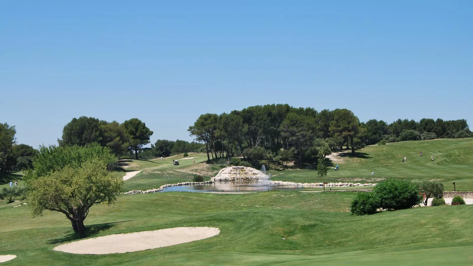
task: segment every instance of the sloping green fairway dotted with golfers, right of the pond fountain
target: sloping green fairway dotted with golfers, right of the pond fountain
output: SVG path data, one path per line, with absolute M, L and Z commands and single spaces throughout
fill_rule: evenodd
M 420 157 L 419 152 L 423 156 Z M 434 156 L 434 161 L 430 156 Z M 402 162 L 403 157 L 406 162 Z M 270 171 L 273 180 L 313 182 L 377 182 L 379 178 L 441 179 L 445 190 L 473 191 L 473 138 L 408 141 L 369 146 L 357 151 L 356 157 L 344 156 L 340 170 L 329 168 L 326 177 L 313 169 Z M 371 172 L 375 172 L 372 176 Z

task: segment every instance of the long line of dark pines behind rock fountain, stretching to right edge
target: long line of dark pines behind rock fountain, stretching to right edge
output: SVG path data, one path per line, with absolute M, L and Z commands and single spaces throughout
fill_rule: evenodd
M 346 146 L 355 150 L 365 145 L 410 140 L 405 131 L 420 134 L 415 139 L 473 137 L 466 120 L 397 120 L 391 124 L 376 119 L 366 123 L 348 109 L 316 111 L 288 104 L 250 106 L 230 113 L 203 114 L 188 129 L 191 136 L 205 144 L 207 159 L 245 155 L 258 164 L 261 160 L 317 161 L 320 152 Z M 403 136 L 404 137 L 401 139 Z M 409 135 L 409 136 L 408 136 Z M 425 138 L 424 138 L 425 137 Z M 256 147 L 262 147 L 263 156 Z M 326 148 L 328 147 L 328 151 Z M 263 158 L 262 158 L 263 157 Z

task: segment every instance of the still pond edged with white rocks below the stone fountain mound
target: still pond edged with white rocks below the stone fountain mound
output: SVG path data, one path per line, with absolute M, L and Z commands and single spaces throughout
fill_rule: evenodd
M 265 180 L 254 181 L 217 181 L 204 185 L 169 186 L 160 192 L 217 192 L 217 191 L 263 191 L 294 188 L 318 188 L 322 186 L 291 186 L 268 184 Z

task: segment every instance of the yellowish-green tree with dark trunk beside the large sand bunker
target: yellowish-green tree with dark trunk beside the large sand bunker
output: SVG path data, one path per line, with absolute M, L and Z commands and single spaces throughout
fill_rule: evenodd
M 107 171 L 104 160 L 90 160 L 82 167 L 70 165 L 47 176 L 28 179 L 28 202 L 33 215 L 44 210 L 64 213 L 74 232 L 86 237 L 84 220 L 90 207 L 113 204 L 123 186 L 122 177 Z

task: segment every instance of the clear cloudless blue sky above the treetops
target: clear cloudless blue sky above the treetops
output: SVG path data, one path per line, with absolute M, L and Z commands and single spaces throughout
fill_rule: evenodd
M 471 0 L 4 0 L 0 122 L 35 148 L 81 115 L 192 140 L 203 113 L 272 103 L 471 124 L 472 14 Z

